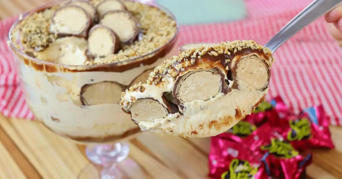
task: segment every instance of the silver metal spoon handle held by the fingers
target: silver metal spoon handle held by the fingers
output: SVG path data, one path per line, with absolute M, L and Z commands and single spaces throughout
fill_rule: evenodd
M 295 16 L 288 24 L 286 24 L 271 40 L 266 43 L 265 46 L 274 53 L 280 45 L 290 39 L 295 33 L 302 30 L 312 21 L 329 12 L 340 3 L 342 3 L 342 0 L 315 0 Z

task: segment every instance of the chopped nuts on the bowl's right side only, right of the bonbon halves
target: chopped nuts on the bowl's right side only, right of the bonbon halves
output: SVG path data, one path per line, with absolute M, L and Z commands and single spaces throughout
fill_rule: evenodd
M 137 19 L 140 29 L 144 31 L 142 39 L 123 46 L 117 54 L 109 55 L 94 64 L 125 61 L 148 54 L 165 45 L 176 33 L 176 21 L 165 12 L 153 6 L 134 1 L 122 1 L 127 10 Z

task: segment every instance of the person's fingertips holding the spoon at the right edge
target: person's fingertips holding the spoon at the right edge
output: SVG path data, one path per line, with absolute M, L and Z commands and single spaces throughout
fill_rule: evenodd
M 325 15 L 328 23 L 328 31 L 330 35 L 342 47 L 342 5 L 337 6 Z

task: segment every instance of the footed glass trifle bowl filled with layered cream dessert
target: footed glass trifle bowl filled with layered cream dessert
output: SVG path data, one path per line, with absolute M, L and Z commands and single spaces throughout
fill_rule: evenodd
M 160 5 L 56 1 L 20 16 L 9 46 L 36 119 L 87 145 L 90 161 L 104 166 L 99 177 L 109 179 L 120 178 L 115 164 L 141 132 L 122 111 L 121 92 L 178 53 L 178 33 L 174 15 Z

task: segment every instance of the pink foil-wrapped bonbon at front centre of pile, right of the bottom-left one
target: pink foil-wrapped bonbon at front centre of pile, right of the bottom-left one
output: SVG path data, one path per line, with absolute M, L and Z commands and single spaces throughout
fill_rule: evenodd
M 312 153 L 300 153 L 273 128 L 268 123 L 263 124 L 254 135 L 246 138 L 246 145 L 256 154 L 264 153 L 263 160 L 269 161 L 272 176 L 300 179 L 312 162 Z

